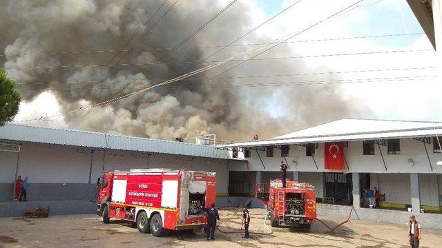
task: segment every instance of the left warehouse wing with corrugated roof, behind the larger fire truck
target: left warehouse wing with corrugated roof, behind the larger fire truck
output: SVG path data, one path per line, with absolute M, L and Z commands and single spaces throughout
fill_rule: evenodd
M 0 201 L 13 199 L 18 175 L 29 177 L 29 201 L 95 200 L 97 178 L 137 168 L 216 172 L 226 196 L 229 168 L 244 163 L 209 145 L 17 124 L 0 127 L 0 143 Z

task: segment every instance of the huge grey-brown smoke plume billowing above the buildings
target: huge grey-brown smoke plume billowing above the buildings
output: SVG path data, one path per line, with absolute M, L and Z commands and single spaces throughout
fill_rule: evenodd
M 229 10 L 210 23 L 204 30 L 184 43 L 170 56 L 164 56 L 177 43 L 189 36 L 202 23 L 222 8 L 213 1 L 181 0 L 150 28 L 173 4 L 168 1 L 148 23 L 151 31 L 141 32 L 128 52 L 111 70 L 106 65 L 116 52 L 61 54 L 65 51 L 119 50 L 132 35 L 153 15 L 163 1 L 145 0 L 10 0 L 0 8 L 0 56 L 4 68 L 23 92 L 23 101 L 32 99 L 46 89 L 53 90 L 64 110 L 75 110 L 134 92 L 136 89 L 180 76 L 207 63 L 202 61 L 219 48 L 253 28 L 244 3 L 235 3 Z M 222 3 L 225 4 L 226 3 Z M 273 39 L 249 34 L 248 42 Z M 244 42 L 244 41 L 242 41 Z M 162 49 L 160 49 L 162 48 Z M 208 61 L 218 61 L 229 54 L 252 47 L 227 48 Z M 38 54 L 39 52 L 56 52 Z M 123 52 L 124 54 L 124 52 Z M 116 56 L 115 63 L 122 54 Z M 280 45 L 265 56 L 285 56 L 287 47 Z M 162 62 L 152 68 L 158 59 Z M 244 58 L 240 58 L 244 59 Z M 170 63 L 184 62 L 184 63 Z M 133 65 L 141 63 L 144 65 Z M 98 132 L 115 132 L 151 138 L 186 141 L 201 134 L 215 133 L 230 140 L 249 139 L 253 134 L 262 138 L 291 132 L 296 127 L 332 121 L 342 117 L 362 116 L 363 105 L 352 99 L 343 99 L 336 86 L 300 87 L 238 87 L 243 83 L 276 83 L 290 80 L 214 79 L 202 83 L 218 72 L 238 62 L 229 62 L 220 68 L 193 76 L 164 87 L 144 92 L 102 108 L 80 111 L 64 116 L 69 127 Z M 84 67 L 55 67 L 60 65 L 97 65 Z M 35 68 L 39 67 L 39 68 Z M 25 69 L 28 68 L 28 69 Z M 327 68 L 308 68 L 300 59 L 280 61 L 249 61 L 222 77 L 302 73 Z M 107 75 L 108 74 L 108 75 Z M 137 81 L 133 81 L 137 79 Z M 338 79 L 334 77 L 319 80 Z M 90 82 L 95 81 L 95 82 Z M 102 81 L 102 82 L 101 82 Z M 42 84 L 34 84 L 42 82 Z M 48 83 L 52 82 L 52 83 Z M 60 82 L 60 83 L 58 83 Z M 276 117 L 277 116 L 277 117 Z

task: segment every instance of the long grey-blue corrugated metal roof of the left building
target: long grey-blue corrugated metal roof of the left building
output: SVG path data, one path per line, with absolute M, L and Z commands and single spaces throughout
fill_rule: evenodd
M 153 138 L 139 138 L 52 127 L 35 127 L 15 123 L 7 123 L 3 127 L 0 127 L 0 139 L 99 149 L 120 149 L 136 152 L 232 159 L 227 151 L 209 145 L 196 145 Z

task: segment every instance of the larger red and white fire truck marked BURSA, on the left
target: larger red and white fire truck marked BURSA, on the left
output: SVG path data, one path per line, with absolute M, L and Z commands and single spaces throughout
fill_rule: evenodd
M 97 214 L 136 223 L 153 236 L 170 230 L 201 229 L 206 225 L 202 207 L 215 203 L 216 174 L 168 169 L 115 171 L 100 178 Z

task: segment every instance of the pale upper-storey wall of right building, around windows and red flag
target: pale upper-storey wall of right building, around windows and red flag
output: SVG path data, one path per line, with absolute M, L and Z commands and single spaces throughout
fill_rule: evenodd
M 345 172 L 379 172 L 379 173 L 430 173 L 442 174 L 442 165 L 436 165 L 437 161 L 442 161 L 442 154 L 433 153 L 433 144 L 426 144 L 430 161 L 432 163 L 433 172 L 430 170 L 427 154 L 425 148 L 420 141 L 412 140 L 411 138 L 401 139 L 401 154 L 387 154 L 387 146 L 381 145 L 381 151 L 385 158 L 387 171 L 383 165 L 381 154 L 378 146 L 375 145 L 374 155 L 363 155 L 363 142 L 351 141 L 349 147 L 345 148 L 345 158 L 349 165 L 349 169 L 345 168 Z M 247 158 L 249 161 L 250 170 L 260 170 L 277 172 L 279 171 L 279 164 L 281 161 L 280 149 L 273 149 L 273 157 L 267 158 L 265 151 L 258 151 L 265 164 L 266 169 L 262 167 L 261 161 L 256 152 L 251 152 L 251 157 Z M 414 161 L 413 165 L 408 163 L 408 159 Z M 299 172 L 326 172 L 324 169 L 324 144 L 318 144 L 318 149 L 315 152 L 315 160 L 318 169 L 311 157 L 305 156 L 305 147 L 298 145 L 290 145 L 289 157 L 287 162 L 291 167 L 291 171 Z M 296 162 L 296 166 L 293 161 Z M 243 168 L 244 169 L 244 168 Z

